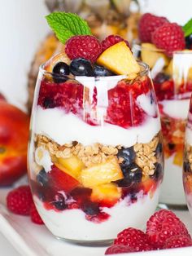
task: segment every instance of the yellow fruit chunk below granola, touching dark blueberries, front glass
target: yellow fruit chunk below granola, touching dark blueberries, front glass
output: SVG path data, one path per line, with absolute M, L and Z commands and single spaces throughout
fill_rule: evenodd
M 104 183 L 111 183 L 111 181 L 122 178 L 123 174 L 116 157 L 109 157 L 107 161 L 81 171 L 81 183 L 87 188 L 93 188 Z

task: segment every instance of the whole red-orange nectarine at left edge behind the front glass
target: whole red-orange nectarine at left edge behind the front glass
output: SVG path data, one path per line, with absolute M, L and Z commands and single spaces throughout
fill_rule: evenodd
M 28 115 L 0 99 L 0 186 L 26 173 L 28 130 Z

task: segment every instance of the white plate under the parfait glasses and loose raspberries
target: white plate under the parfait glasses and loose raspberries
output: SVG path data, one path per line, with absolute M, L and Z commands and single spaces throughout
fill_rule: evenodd
M 104 256 L 106 247 L 85 247 L 58 241 L 45 226 L 33 224 L 29 217 L 11 214 L 6 208 L 8 189 L 0 189 L 0 232 L 24 256 Z M 192 234 L 192 218 L 188 211 L 177 211 L 177 216 Z M 116 254 L 116 256 L 185 256 L 192 255 L 192 247 L 159 251 Z

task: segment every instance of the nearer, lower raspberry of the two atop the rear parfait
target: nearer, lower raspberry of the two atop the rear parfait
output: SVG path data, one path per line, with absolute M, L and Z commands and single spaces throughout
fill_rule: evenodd
M 176 23 L 165 23 L 152 34 L 152 42 L 159 49 L 163 49 L 168 56 L 173 51 L 185 49 L 184 32 Z

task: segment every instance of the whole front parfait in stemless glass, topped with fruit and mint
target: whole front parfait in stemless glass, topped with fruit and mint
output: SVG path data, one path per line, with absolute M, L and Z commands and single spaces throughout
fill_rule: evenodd
M 163 179 L 159 111 L 149 68 L 129 43 L 99 42 L 78 16 L 48 15 L 65 51 L 37 79 L 28 175 L 33 199 L 55 236 L 106 243 L 144 227 Z M 72 24 L 76 24 L 76 29 Z M 71 31 L 70 28 L 73 28 Z M 70 33 L 69 33 L 70 31 Z

